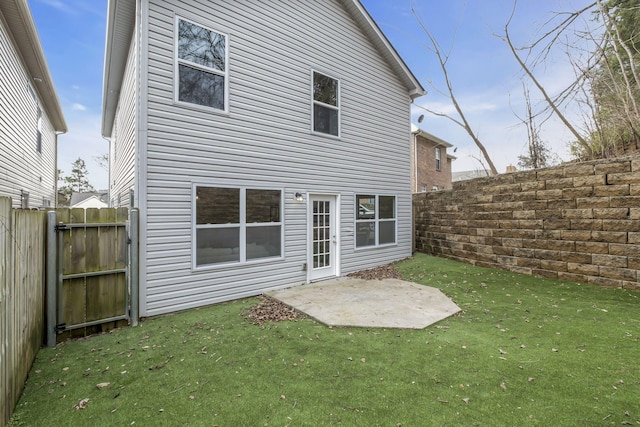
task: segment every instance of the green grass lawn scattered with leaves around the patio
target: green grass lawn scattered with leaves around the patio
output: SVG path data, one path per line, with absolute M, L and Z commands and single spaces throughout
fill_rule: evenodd
M 418 254 L 424 330 L 243 317 L 257 298 L 40 351 L 10 426 L 640 425 L 640 292 Z

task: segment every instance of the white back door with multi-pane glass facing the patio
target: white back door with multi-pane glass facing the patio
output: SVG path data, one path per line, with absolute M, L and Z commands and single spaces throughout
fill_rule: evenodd
M 337 274 L 336 196 L 309 196 L 309 281 L 335 277 Z

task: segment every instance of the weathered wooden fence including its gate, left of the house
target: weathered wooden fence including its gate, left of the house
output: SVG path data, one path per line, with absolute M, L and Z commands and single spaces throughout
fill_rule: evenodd
M 53 346 L 127 319 L 137 324 L 137 236 L 136 209 L 47 213 L 12 209 L 0 197 L 0 427 L 45 336 Z

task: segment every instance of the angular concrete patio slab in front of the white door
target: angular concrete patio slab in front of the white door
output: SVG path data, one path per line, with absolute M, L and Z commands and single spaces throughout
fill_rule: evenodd
M 329 326 L 423 329 L 460 308 L 439 289 L 341 277 L 266 293 Z

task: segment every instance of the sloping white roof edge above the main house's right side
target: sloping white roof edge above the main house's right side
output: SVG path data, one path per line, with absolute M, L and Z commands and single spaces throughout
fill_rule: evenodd
M 384 35 L 376 21 L 373 20 L 360 0 L 341 0 L 351 15 L 369 36 L 373 44 L 383 52 L 383 56 L 391 65 L 391 68 L 402 79 L 411 100 L 419 98 L 427 93 L 416 76 L 411 72 L 398 51 L 393 47 L 387 36 Z M 355 13 L 357 12 L 357 13 Z

